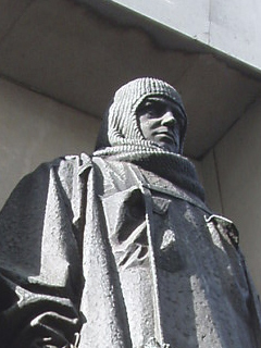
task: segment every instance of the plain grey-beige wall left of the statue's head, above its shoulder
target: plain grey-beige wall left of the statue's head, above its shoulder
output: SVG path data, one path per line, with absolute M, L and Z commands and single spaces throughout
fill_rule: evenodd
M 64 154 L 91 153 L 99 122 L 0 79 L 0 207 L 38 164 Z

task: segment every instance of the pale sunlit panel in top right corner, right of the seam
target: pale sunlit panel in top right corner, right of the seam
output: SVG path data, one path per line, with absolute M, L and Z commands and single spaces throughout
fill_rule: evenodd
M 211 1 L 210 18 L 210 46 L 261 67 L 260 1 Z

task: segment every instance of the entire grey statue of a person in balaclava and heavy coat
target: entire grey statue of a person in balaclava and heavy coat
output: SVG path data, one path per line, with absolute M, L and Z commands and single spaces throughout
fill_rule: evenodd
M 182 156 L 186 112 L 121 87 L 96 151 L 41 164 L 0 214 L 2 348 L 260 348 L 234 224 Z

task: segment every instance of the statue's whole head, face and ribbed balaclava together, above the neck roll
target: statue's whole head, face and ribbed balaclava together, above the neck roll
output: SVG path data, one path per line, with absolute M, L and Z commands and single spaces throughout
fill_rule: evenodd
M 186 127 L 186 112 L 175 88 L 157 78 L 137 78 L 115 92 L 96 148 L 141 145 L 181 153 Z

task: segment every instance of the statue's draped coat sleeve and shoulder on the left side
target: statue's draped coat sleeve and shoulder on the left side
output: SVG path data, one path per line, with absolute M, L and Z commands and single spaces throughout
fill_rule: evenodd
M 1 347 L 70 347 L 76 340 L 87 181 L 82 164 L 75 157 L 41 165 L 0 213 Z

